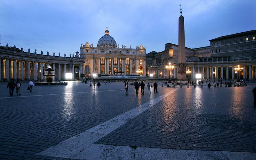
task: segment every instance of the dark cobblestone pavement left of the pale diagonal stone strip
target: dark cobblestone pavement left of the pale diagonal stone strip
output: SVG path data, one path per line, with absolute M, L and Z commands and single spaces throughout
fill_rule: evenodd
M 35 86 L 21 96 L 9 96 L 7 83 L 0 82 L 0 159 L 63 159 L 35 155 L 102 122 L 127 112 L 164 93 L 136 96 L 134 86 L 125 95 L 124 83 L 89 84 L 68 81 L 67 86 Z

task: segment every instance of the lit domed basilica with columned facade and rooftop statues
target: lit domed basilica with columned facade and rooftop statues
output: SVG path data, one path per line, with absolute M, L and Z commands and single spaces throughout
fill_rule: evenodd
M 146 75 L 146 48 L 142 44 L 131 48 L 119 46 L 108 29 L 96 47 L 86 42 L 81 44 L 80 55 L 85 60 L 85 74 Z

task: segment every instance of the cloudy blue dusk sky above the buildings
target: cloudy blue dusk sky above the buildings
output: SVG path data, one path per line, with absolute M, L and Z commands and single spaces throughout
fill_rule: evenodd
M 0 0 L 1 46 L 64 56 L 81 43 L 97 46 L 108 26 L 120 46 L 160 52 L 178 44 L 180 4 L 189 48 L 256 29 L 256 0 Z

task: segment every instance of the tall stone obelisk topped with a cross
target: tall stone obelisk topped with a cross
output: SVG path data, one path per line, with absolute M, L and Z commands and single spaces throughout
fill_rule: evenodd
M 178 80 L 186 80 L 185 31 L 184 17 L 182 15 L 179 17 Z

